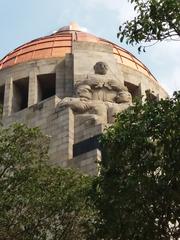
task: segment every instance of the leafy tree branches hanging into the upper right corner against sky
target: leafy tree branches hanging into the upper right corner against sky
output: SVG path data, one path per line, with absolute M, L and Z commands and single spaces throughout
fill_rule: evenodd
M 127 44 L 180 40 L 180 1 L 130 0 L 137 16 L 119 27 L 120 41 Z M 141 51 L 142 46 L 139 47 Z M 145 47 L 143 48 L 145 51 Z

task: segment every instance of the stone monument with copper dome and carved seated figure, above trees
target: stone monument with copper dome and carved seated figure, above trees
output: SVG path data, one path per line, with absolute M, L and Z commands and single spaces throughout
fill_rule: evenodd
M 150 90 L 167 93 L 125 49 L 73 23 L 0 60 L 3 124 L 23 122 L 51 136 L 50 161 L 97 173 L 98 137 L 114 115 Z

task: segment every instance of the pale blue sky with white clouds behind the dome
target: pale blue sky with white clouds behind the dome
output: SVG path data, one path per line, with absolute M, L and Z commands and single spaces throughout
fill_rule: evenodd
M 180 41 L 162 42 L 138 54 L 137 47 L 117 38 L 119 25 L 134 15 L 128 0 L 0 0 L 0 59 L 21 44 L 75 21 L 133 53 L 171 95 L 180 90 Z

